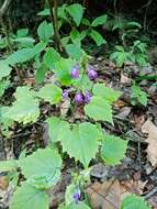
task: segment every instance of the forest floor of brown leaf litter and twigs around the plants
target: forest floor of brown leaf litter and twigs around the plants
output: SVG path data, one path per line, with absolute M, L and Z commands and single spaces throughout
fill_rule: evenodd
M 119 166 L 105 166 L 94 162 L 91 170 L 91 184 L 87 187 L 87 194 L 91 197 L 93 208 L 117 209 L 122 197 L 127 194 L 137 194 L 148 200 L 154 209 L 157 209 L 157 90 L 155 80 L 147 79 L 148 75 L 157 75 L 157 65 L 143 67 L 138 85 L 148 94 L 146 107 L 132 106 L 131 82 L 135 79 L 132 69 L 136 66 L 126 64 L 127 72 L 117 68 L 112 62 L 103 57 L 92 57 L 90 63 L 98 70 L 98 81 L 104 81 L 108 87 L 112 87 L 123 92 L 121 98 L 113 105 L 114 127 L 103 124 L 106 132 L 121 135 L 130 140 L 126 157 Z M 146 79 L 145 79 L 146 78 Z M 49 79 L 49 78 L 48 78 Z M 24 80 L 25 84 L 33 84 L 31 75 Z M 41 107 L 43 119 L 51 111 L 60 111 L 66 114 L 68 103 L 63 102 L 57 109 L 52 109 L 49 105 Z M 77 120 L 83 118 L 82 108 L 79 107 L 75 113 Z M 1 144 L 0 157 L 19 157 L 22 150 L 32 152 L 37 147 L 44 147 L 48 142 L 47 127 L 41 122 L 26 125 L 25 129 L 16 127 L 10 141 Z M 70 162 L 70 161 L 69 161 Z M 71 162 L 70 162 L 71 163 Z M 56 208 L 64 199 L 65 188 L 70 182 L 70 172 L 75 169 L 72 163 L 63 173 L 61 180 L 55 189 L 51 190 L 51 205 Z M 12 194 L 12 188 L 7 184 L 4 174 L 0 176 L 0 202 L 1 207 L 7 206 Z

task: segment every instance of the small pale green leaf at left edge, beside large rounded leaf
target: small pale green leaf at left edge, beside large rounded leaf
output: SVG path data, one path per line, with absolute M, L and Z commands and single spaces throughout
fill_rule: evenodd
M 16 169 L 18 167 L 19 167 L 19 162 L 16 160 L 0 162 L 0 172 L 8 172 L 8 170 Z

